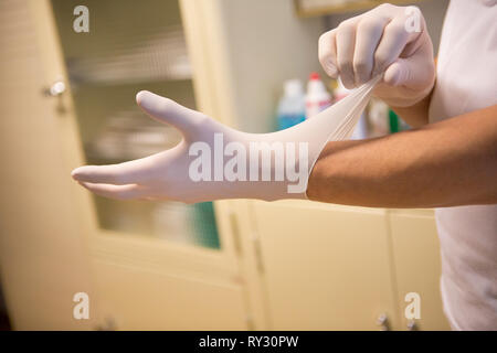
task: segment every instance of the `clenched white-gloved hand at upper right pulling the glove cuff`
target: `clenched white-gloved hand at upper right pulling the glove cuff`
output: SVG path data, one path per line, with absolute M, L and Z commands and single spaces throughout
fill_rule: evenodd
M 384 73 L 373 95 L 393 107 L 420 101 L 435 81 L 433 44 L 415 7 L 384 3 L 341 22 L 319 38 L 319 62 L 346 88 Z

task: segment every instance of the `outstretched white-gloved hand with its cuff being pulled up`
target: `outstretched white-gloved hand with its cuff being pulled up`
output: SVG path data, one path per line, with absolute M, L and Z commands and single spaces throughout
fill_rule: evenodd
M 289 129 L 246 133 L 179 104 L 140 92 L 138 105 L 179 129 L 172 149 L 113 165 L 85 165 L 72 176 L 94 193 L 119 200 L 306 199 L 307 181 L 324 146 L 347 138 L 376 82 Z

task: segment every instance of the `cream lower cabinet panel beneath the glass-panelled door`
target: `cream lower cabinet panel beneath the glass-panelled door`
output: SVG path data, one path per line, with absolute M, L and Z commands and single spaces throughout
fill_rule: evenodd
M 106 329 L 247 330 L 240 282 L 108 260 L 97 260 L 96 268 Z

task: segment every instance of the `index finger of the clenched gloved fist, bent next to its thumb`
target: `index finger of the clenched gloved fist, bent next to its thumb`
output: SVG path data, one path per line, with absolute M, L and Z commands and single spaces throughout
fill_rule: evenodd
M 395 18 L 389 22 L 374 53 L 373 76 L 382 74 L 415 36 L 405 30 L 404 18 Z

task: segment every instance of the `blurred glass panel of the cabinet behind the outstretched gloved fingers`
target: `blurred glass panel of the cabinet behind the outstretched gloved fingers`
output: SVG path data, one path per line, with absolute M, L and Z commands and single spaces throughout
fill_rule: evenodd
M 88 164 L 146 157 L 181 136 L 135 103 L 147 89 L 195 108 L 178 1 L 87 0 L 89 32 L 75 32 L 80 1 L 52 0 Z M 94 196 L 102 228 L 219 248 L 212 203 Z

